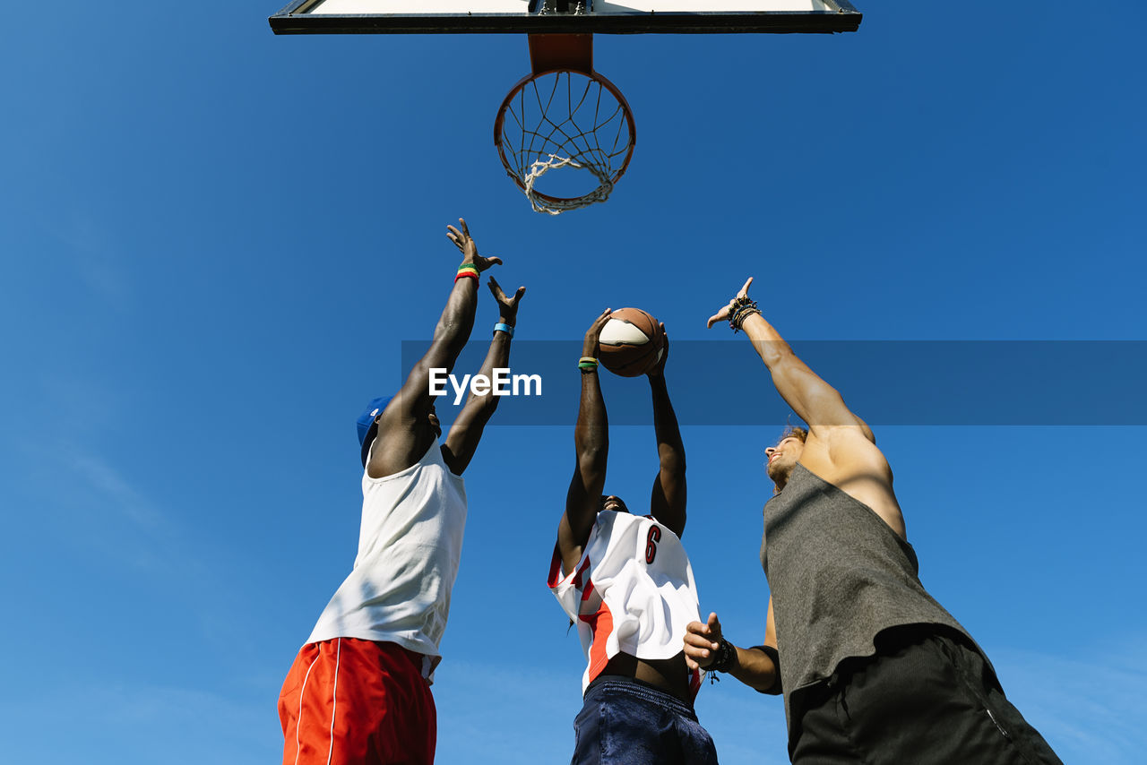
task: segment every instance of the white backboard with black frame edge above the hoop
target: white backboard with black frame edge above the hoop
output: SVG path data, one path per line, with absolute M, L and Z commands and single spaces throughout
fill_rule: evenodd
M 292 0 L 276 34 L 855 32 L 848 0 Z

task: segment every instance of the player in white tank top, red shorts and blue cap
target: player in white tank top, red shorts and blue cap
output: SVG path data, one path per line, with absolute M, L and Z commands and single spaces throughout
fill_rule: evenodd
M 430 682 L 440 659 L 466 523 L 466 470 L 498 397 L 473 395 L 443 444 L 430 370 L 453 369 L 469 339 L 484 258 L 466 221 L 447 236 L 462 265 L 426 356 L 391 399 L 359 420 L 362 523 L 354 568 L 319 617 L 279 697 L 284 765 L 434 762 Z M 500 318 L 479 374 L 509 366 L 520 287 L 490 279 Z

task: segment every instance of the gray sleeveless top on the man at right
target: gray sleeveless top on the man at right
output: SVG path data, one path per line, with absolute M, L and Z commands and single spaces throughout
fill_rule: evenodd
M 827 680 L 845 658 L 872 656 L 883 630 L 941 624 L 968 635 L 920 584 L 912 545 L 801 463 L 765 504 L 760 564 L 773 598 L 787 717 L 795 692 Z

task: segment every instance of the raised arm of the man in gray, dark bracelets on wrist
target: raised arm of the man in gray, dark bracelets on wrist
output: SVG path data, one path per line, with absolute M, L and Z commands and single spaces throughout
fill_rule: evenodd
M 765 362 L 773 378 L 773 385 L 781 398 L 793 407 L 797 416 L 809 423 L 814 436 L 824 435 L 826 428 L 849 426 L 859 428 L 864 436 L 875 442 L 868 426 L 849 411 L 844 399 L 835 388 L 821 380 L 817 373 L 797 358 L 789 344 L 765 321 L 756 303 L 749 299 L 750 276 L 736 297 L 709 318 L 709 327 L 718 321 L 729 320 L 752 341 L 752 348 Z

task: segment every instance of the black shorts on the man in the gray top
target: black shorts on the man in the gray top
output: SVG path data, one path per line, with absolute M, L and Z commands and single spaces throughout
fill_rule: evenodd
M 796 765 L 1062 765 L 962 635 L 912 625 L 790 700 Z

